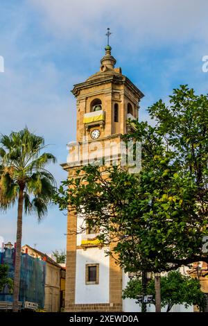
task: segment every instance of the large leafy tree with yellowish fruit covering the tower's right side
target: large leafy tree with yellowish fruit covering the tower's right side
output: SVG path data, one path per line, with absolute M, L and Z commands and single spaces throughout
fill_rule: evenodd
M 60 209 L 83 215 L 103 242 L 114 242 L 109 254 L 125 271 L 208 262 L 207 108 L 207 95 L 174 89 L 170 105 L 160 100 L 148 109 L 155 127 L 135 121 L 135 132 L 124 136 L 141 142 L 140 173 L 85 166 L 55 196 Z

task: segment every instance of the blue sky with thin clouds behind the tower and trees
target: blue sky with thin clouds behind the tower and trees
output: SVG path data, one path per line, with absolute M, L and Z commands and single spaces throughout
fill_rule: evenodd
M 0 132 L 28 126 L 43 135 L 58 159 L 51 172 L 66 174 L 69 141 L 76 135 L 76 101 L 70 90 L 98 71 L 110 27 L 112 55 L 145 94 L 146 108 L 188 84 L 207 93 L 207 0 L 0 0 Z M 0 236 L 15 241 L 16 207 L 0 214 Z M 67 218 L 51 207 L 42 223 L 24 216 L 23 241 L 44 252 L 65 248 Z

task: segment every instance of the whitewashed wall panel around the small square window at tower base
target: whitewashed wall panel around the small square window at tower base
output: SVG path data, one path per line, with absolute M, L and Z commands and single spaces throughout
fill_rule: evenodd
M 109 302 L 109 257 L 105 256 L 105 250 L 76 250 L 76 304 Z M 99 284 L 85 284 L 86 264 L 99 264 Z

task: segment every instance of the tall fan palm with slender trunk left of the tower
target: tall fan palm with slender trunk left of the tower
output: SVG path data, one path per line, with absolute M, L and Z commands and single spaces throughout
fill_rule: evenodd
M 18 311 L 21 264 L 22 214 L 37 214 L 38 221 L 47 212 L 55 192 L 55 179 L 46 169 L 55 157 L 42 153 L 44 138 L 24 128 L 0 137 L 0 208 L 7 209 L 17 202 L 17 247 L 13 311 Z

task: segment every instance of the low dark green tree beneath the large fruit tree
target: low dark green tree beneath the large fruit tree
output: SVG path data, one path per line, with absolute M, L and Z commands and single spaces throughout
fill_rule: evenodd
M 153 295 L 155 304 L 153 278 L 148 282 L 146 294 Z M 137 299 L 137 295 L 142 295 L 140 278 L 130 280 L 123 290 L 123 299 Z M 194 304 L 200 310 L 205 307 L 204 293 L 200 290 L 200 282 L 196 278 L 182 275 L 179 271 L 171 271 L 168 275 L 161 277 L 161 300 L 162 307 L 166 307 L 166 312 L 169 312 L 174 304 L 184 304 L 186 308 Z

